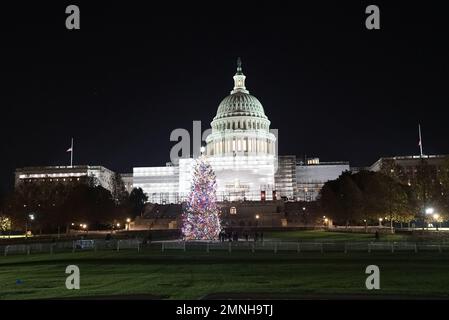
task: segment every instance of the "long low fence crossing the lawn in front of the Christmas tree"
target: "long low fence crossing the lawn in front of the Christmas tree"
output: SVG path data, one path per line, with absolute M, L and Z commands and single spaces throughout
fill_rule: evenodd
M 412 242 L 280 242 L 280 241 L 161 241 L 155 242 L 162 252 L 166 251 L 205 251 L 205 252 L 449 252 L 449 243 L 412 243 Z M 16 244 L 0 247 L 0 255 L 58 252 L 82 252 L 97 250 L 136 250 L 144 248 L 137 239 L 125 240 L 76 240 L 56 243 Z

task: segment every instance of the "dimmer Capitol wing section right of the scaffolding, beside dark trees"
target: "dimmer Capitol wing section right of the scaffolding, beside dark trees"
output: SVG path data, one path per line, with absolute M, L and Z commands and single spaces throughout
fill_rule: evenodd
M 323 185 L 349 171 L 349 162 L 320 162 L 319 158 L 300 161 L 296 166 L 296 200 L 315 201 Z

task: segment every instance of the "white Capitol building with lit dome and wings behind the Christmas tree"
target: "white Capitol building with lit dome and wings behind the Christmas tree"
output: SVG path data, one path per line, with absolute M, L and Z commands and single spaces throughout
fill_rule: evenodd
M 270 129 L 262 103 L 246 88 L 240 59 L 233 78 L 234 86 L 218 105 L 203 150 L 216 174 L 219 201 L 313 201 L 326 181 L 350 170 L 348 162 L 278 155 L 277 130 Z M 132 174 L 121 176 L 128 191 L 142 188 L 149 202 L 180 203 L 190 191 L 194 163 L 194 158 L 180 158 L 161 167 L 135 167 Z M 72 183 L 94 176 L 111 190 L 113 174 L 101 166 L 26 167 L 16 169 L 15 184 Z

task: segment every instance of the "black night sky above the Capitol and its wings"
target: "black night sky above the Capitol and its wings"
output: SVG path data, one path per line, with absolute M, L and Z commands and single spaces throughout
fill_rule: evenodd
M 449 153 L 442 1 L 40 2 L 1 7 L 4 190 L 16 167 L 68 165 L 72 136 L 75 164 L 165 165 L 173 129 L 210 127 L 238 56 L 281 155 L 368 166 L 417 154 L 419 122 L 424 153 Z M 381 30 L 365 28 L 368 4 Z

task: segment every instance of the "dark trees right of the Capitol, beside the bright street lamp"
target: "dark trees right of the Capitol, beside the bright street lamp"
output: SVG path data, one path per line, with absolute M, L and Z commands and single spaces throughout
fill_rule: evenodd
M 420 160 L 413 168 L 386 160 L 380 172 L 344 172 L 324 184 L 321 209 L 337 224 L 346 225 L 386 220 L 393 227 L 394 223 L 425 225 L 448 220 L 449 159 L 440 166 Z M 428 208 L 434 213 L 426 214 Z

